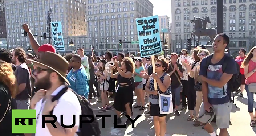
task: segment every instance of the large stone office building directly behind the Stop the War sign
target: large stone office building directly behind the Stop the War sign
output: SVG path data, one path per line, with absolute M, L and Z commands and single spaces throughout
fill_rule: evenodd
M 89 0 L 88 36 L 89 43 L 95 46 L 97 53 L 106 50 L 127 50 L 138 53 L 139 44 L 122 42 L 138 41 L 136 18 L 153 16 L 153 4 L 149 0 Z

